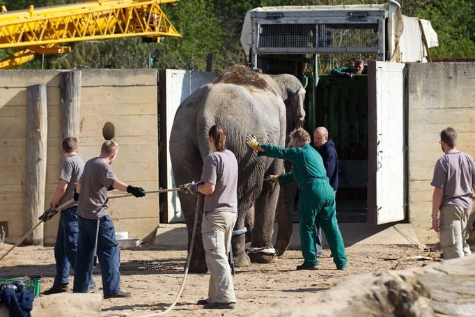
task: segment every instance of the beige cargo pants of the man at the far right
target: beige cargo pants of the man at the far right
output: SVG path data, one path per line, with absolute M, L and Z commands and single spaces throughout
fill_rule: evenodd
M 444 205 L 440 208 L 439 240 L 444 259 L 472 254 L 467 244 L 469 215 L 470 210 L 460 206 Z

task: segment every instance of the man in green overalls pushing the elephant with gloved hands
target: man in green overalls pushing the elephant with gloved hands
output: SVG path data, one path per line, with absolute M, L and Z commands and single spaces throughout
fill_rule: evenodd
M 304 129 L 297 129 L 290 134 L 288 148 L 259 144 L 254 135 L 247 135 L 246 144 L 258 151 L 258 156 L 289 160 L 293 170 L 277 175 L 271 175 L 265 180 L 274 180 L 280 185 L 295 181 L 299 187 L 299 223 L 300 243 L 304 263 L 297 270 L 317 270 L 317 254 L 313 238 L 313 224 L 317 222 L 327 237 L 332 251 L 333 261 L 338 270 L 344 270 L 347 265 L 345 245 L 341 237 L 338 222 L 336 222 L 335 194 L 328 183 L 327 171 L 322 157 L 310 145 L 310 134 Z

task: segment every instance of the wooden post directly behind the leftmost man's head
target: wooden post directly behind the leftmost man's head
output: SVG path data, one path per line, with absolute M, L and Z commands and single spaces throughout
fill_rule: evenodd
M 61 142 L 67 137 L 79 139 L 79 102 L 81 97 L 81 71 L 63 72 L 61 75 Z M 60 146 L 61 150 L 61 146 Z M 63 159 L 61 151 L 61 160 Z

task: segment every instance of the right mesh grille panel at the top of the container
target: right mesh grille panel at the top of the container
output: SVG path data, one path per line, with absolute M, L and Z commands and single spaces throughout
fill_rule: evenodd
M 377 24 L 318 24 L 318 47 L 377 47 Z

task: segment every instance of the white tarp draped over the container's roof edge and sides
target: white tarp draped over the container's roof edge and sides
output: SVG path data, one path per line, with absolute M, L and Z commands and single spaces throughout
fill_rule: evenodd
M 427 20 L 416 17 L 406 17 L 400 13 L 400 5 L 396 1 L 389 1 L 389 5 L 341 5 L 341 6 L 267 6 L 247 11 L 242 23 L 241 45 L 249 60 L 252 47 L 251 12 L 253 11 L 283 11 L 283 10 L 352 10 L 352 9 L 381 9 L 389 7 L 387 47 L 390 49 L 390 61 L 417 62 L 427 61 L 426 48 L 423 45 L 423 36 L 426 36 L 428 47 L 439 45 L 437 33 Z M 419 24 L 420 22 L 420 24 Z M 422 28 L 422 31 L 421 31 Z

